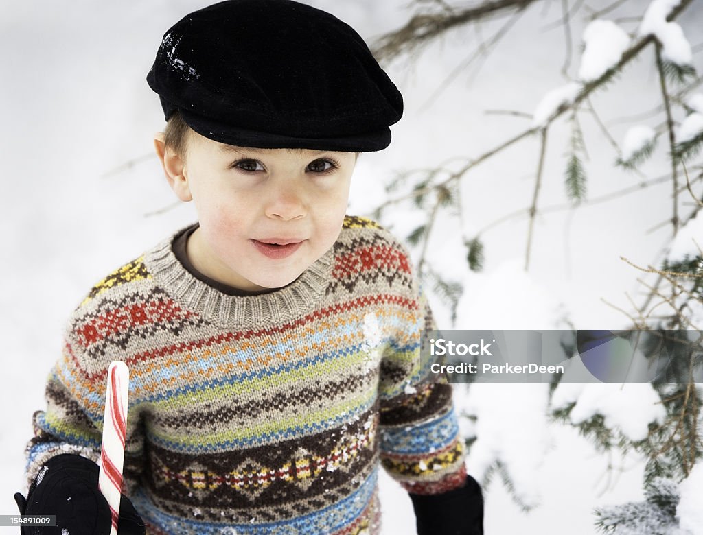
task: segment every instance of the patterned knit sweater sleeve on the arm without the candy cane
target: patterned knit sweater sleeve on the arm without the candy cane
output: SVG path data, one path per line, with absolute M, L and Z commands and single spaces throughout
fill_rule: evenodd
M 422 337 L 434 329 L 423 293 L 414 291 L 413 314 L 383 355 L 380 449 L 387 472 L 413 494 L 440 494 L 466 480 L 464 447 L 444 376 L 420 359 Z

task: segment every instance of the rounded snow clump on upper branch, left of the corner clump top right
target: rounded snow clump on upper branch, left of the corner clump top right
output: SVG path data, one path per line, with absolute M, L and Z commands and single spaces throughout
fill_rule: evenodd
M 593 20 L 583 31 L 583 43 L 579 79 L 593 81 L 617 65 L 630 37 L 612 20 Z

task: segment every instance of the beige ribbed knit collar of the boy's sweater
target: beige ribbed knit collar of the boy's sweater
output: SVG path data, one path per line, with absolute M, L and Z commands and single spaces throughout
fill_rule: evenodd
M 157 286 L 209 322 L 229 329 L 280 324 L 312 312 L 323 297 L 333 264 L 331 249 L 288 286 L 254 296 L 231 296 L 196 279 L 179 262 L 172 243 L 181 232 L 147 251 L 144 264 Z

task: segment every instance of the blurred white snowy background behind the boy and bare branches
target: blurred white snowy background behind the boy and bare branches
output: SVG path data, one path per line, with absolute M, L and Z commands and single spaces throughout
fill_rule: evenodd
M 399 27 L 408 15 L 406 0 L 309 3 L 335 13 L 367 38 Z M 22 488 L 22 449 L 32 435 L 32 411 L 43 407 L 46 374 L 58 356 L 63 325 L 72 308 L 106 272 L 194 218 L 190 206 L 171 208 L 176 199 L 151 156 L 151 138 L 163 121 L 157 97 L 144 78 L 165 30 L 182 15 L 207 4 L 202 0 L 8 0 L 3 4 L 0 209 L 6 234 L 0 277 L 4 342 L 0 406 L 5 425 L 0 434 L 0 514 L 15 512 L 11 496 Z M 590 4 L 598 8 L 608 2 Z M 628 1 L 607 18 L 641 15 L 647 4 Z M 685 55 L 678 30 L 662 25 L 657 13 L 654 9 L 645 20 L 652 25 L 650 31 L 663 32 L 669 39 L 671 56 Z M 543 120 L 548 106 L 553 110 L 559 104 L 555 99 L 573 98 L 573 91 L 564 89 L 569 80 L 560 74 L 564 32 L 551 25 L 560 18 L 560 3 L 538 2 L 525 11 L 488 60 L 472 63 L 451 80 L 450 73 L 470 57 L 479 40 L 488 39 L 503 25 L 503 19 L 452 34 L 433 45 L 416 65 L 395 62 L 389 72 L 404 92 L 406 115 L 394 128 L 389 149 L 359 159 L 352 212 L 373 207 L 394 171 L 425 168 L 456 156 L 477 157 L 529 128 L 532 120 L 489 115 L 486 110 L 546 113 L 540 116 Z M 695 39 L 701 36 L 695 29 L 703 27 L 699 3 L 694 2 L 678 22 L 697 45 Z M 587 24 L 582 15 L 572 21 L 574 36 L 583 34 Z M 632 23 L 624 28 L 633 34 L 637 31 Z M 624 33 L 612 25 L 592 27 L 586 48 L 589 63 L 583 71 L 579 71 L 576 39 L 569 70 L 574 79 L 576 73 L 590 79 L 602 67 L 598 35 L 624 46 Z M 700 56 L 692 55 L 699 72 Z M 593 104 L 606 121 L 659 105 L 651 65 L 650 55 L 645 54 L 610 91 L 595 95 Z M 562 91 L 550 101 L 543 100 L 554 88 Z M 700 114 L 703 111 L 694 105 L 700 105 L 699 100 L 692 100 L 691 107 Z M 657 126 L 651 119 L 644 122 Z M 637 183 L 636 175 L 614 169 L 617 154 L 595 121 L 584 117 L 581 126 L 588 148 L 588 197 Z M 620 143 L 631 126 L 612 124 Z M 565 121 L 550 130 L 540 206 L 566 201 L 564 155 L 569 138 Z M 637 143 L 626 141 L 625 145 L 631 150 Z M 465 178 L 462 228 L 467 235 L 529 206 L 537 157 L 538 143 L 533 138 Z M 125 167 L 129 161 L 134 164 Z M 666 161 L 655 157 L 646 175 L 654 178 L 667 171 Z M 483 235 L 486 267 L 482 274 L 466 272 L 456 221 L 439 220 L 439 238 L 429 250 L 430 258 L 441 265 L 444 275 L 465 285 L 456 328 L 487 323 L 490 329 L 548 329 L 562 313 L 581 328 L 620 328 L 626 317 L 601 298 L 628 309 L 625 292 L 640 294 L 639 274 L 620 256 L 640 265 L 661 259 L 657 255 L 669 244 L 669 227 L 647 230 L 671 217 L 669 191 L 668 184 L 654 185 L 612 202 L 543 213 L 536 220 L 529 274 L 522 272 L 524 218 L 512 218 Z M 404 210 L 390 212 L 388 221 L 401 237 L 417 224 L 416 216 Z M 692 238 L 701 236 L 695 230 L 688 232 Z M 690 249 L 690 239 L 682 247 Z M 437 301 L 433 305 L 440 324 L 448 326 L 449 313 Z M 592 534 L 594 506 L 641 498 L 642 465 L 637 459 L 600 456 L 575 430 L 542 425 L 541 418 L 534 417 L 545 409 L 546 396 L 539 388 L 501 388 L 484 390 L 480 399 L 477 392 L 467 395 L 463 388 L 457 389 L 460 407 L 483 407 L 477 430 L 484 433 L 486 442 L 477 441 L 469 466 L 477 471 L 485 468 L 491 454 L 496 454 L 491 444 L 498 443 L 488 435 L 500 437 L 501 454 L 512 463 L 520 498 L 534 508 L 523 513 L 495 477 L 486 494 L 486 533 Z M 516 399 L 524 401 L 520 404 L 524 415 L 532 418 L 515 417 L 510 408 Z M 696 477 L 701 479 L 699 471 Z M 381 485 L 385 533 L 413 533 L 409 499 L 393 482 L 383 479 Z

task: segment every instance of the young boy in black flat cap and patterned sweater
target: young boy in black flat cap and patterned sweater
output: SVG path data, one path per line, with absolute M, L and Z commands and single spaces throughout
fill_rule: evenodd
M 120 359 L 120 534 L 377 534 L 379 464 L 419 533 L 482 533 L 451 388 L 420 362 L 432 317 L 411 261 L 345 216 L 358 153 L 402 114 L 361 37 L 290 0 L 229 0 L 169 29 L 148 83 L 157 155 L 198 223 L 72 315 L 20 512 L 56 515 L 43 534 L 109 531 L 96 462 Z

